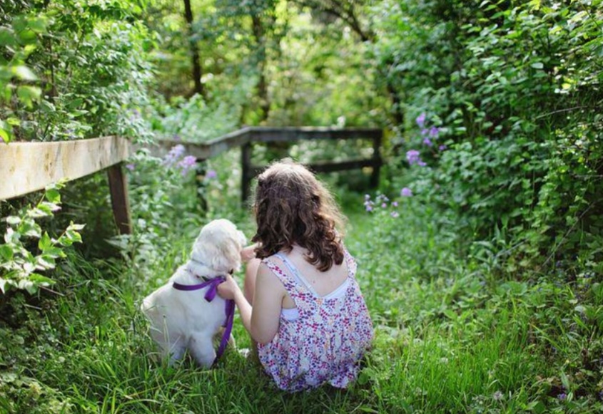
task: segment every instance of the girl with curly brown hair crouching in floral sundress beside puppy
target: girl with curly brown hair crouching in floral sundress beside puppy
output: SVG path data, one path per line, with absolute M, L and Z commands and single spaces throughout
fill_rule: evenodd
M 277 162 L 258 177 L 254 211 L 256 258 L 245 271 L 245 294 L 231 276 L 219 294 L 235 300 L 279 388 L 345 388 L 358 375 L 373 324 L 355 261 L 335 229 L 343 217 L 333 197 L 302 165 Z

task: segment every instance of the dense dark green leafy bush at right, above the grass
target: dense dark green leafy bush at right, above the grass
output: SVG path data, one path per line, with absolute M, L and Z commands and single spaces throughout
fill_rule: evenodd
M 601 1 L 381 7 L 392 13 L 375 53 L 408 115 L 397 145 L 427 164 L 410 168 L 417 193 L 456 212 L 468 237 L 507 230 L 525 265 L 591 250 L 603 219 Z M 421 113 L 445 151 L 423 143 Z

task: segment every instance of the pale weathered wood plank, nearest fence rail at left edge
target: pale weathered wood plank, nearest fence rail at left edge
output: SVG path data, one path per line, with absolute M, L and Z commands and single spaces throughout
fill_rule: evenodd
M 75 180 L 126 160 L 130 143 L 121 137 L 57 143 L 0 144 L 0 200 Z

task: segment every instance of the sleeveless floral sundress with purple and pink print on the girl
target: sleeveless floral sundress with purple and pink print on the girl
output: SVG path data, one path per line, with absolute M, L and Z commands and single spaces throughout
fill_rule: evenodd
M 272 341 L 258 343 L 264 370 L 283 390 L 299 391 L 330 383 L 345 388 L 358 376 L 359 361 L 373 339 L 373 323 L 355 279 L 355 259 L 345 251 L 348 277 L 326 296 L 312 286 L 283 254 L 263 263 L 280 279 L 295 302 L 283 309 Z

